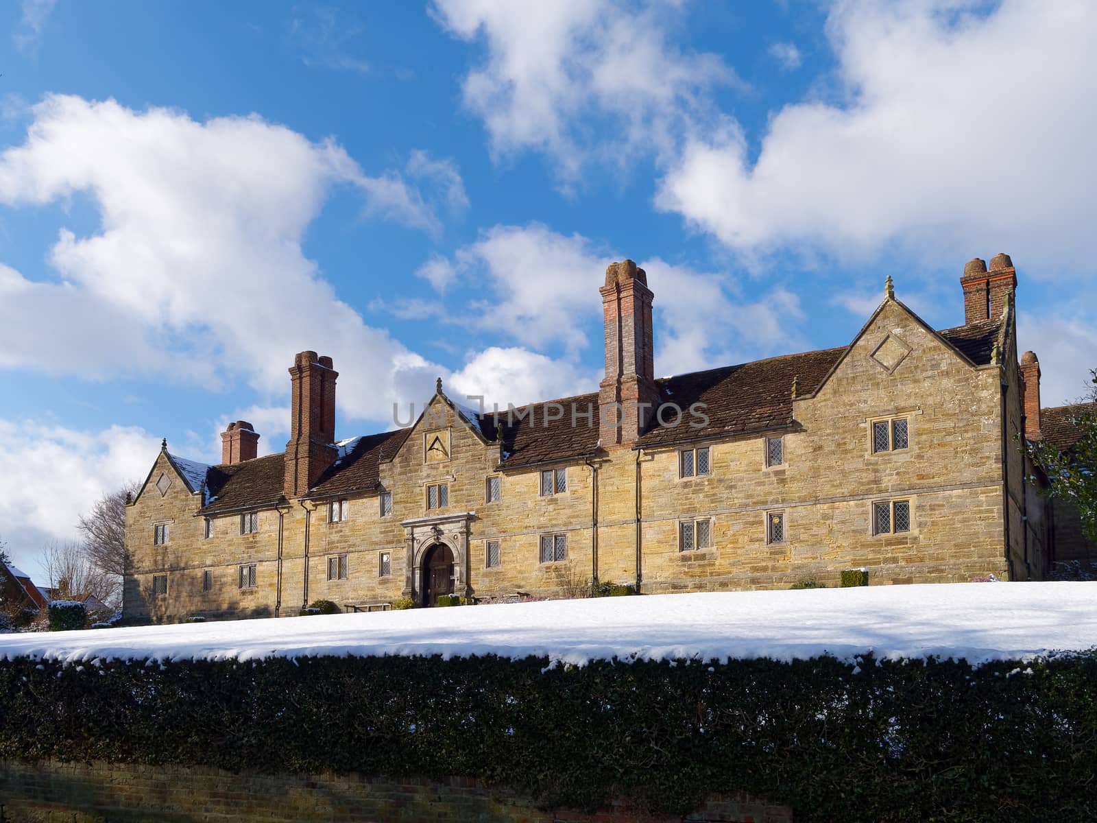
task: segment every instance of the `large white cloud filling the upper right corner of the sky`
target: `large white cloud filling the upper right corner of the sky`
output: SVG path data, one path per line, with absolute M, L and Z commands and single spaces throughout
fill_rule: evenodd
M 769 121 L 757 161 L 734 123 L 688 142 L 657 205 L 738 250 L 1090 255 L 1097 15 L 1084 1 L 839 3 L 837 103 Z M 1031 264 L 1031 262 L 1030 262 Z

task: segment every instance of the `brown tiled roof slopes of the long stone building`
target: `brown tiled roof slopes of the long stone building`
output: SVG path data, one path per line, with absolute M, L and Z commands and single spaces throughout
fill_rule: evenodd
M 991 362 L 1002 323 L 1000 318 L 983 320 L 939 334 L 976 365 L 984 365 Z M 814 393 L 847 348 L 785 354 L 664 377 L 657 381 L 664 403 L 675 403 L 687 414 L 678 426 L 656 424 L 638 439 L 637 446 L 653 447 L 789 426 L 792 422 L 793 379 L 798 396 Z M 703 427 L 690 426 L 688 409 L 694 403 L 706 406 L 704 414 L 709 421 Z M 552 416 L 558 414 L 553 404 L 563 407 L 563 415 L 546 422 L 546 412 Z M 668 421 L 672 419 L 664 416 Z M 505 467 L 574 460 L 596 451 L 598 394 L 534 403 L 516 409 L 510 416 L 506 412 L 483 415 L 477 422 L 489 442 L 498 442 L 501 438 Z M 1047 422 L 1044 428 L 1047 431 Z M 320 476 L 309 496 L 372 491 L 380 481 L 381 464 L 393 458 L 410 431 L 398 429 L 347 441 L 344 455 Z M 237 465 L 211 466 L 206 482 L 210 504 L 203 511 L 213 514 L 274 504 L 283 499 L 283 472 L 282 454 Z

